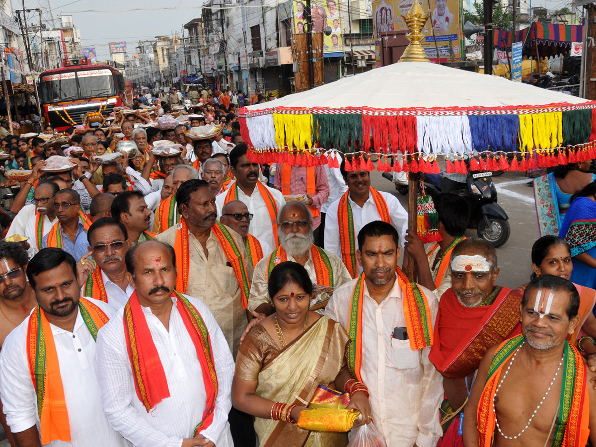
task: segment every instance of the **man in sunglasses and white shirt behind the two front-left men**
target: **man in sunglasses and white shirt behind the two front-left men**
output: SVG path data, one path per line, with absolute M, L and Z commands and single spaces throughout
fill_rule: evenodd
M 89 227 L 87 240 L 88 250 L 97 265 L 80 293 L 120 309 L 134 291 L 128 283 L 124 262 L 126 251 L 131 247 L 126 228 L 113 218 L 101 218 Z

